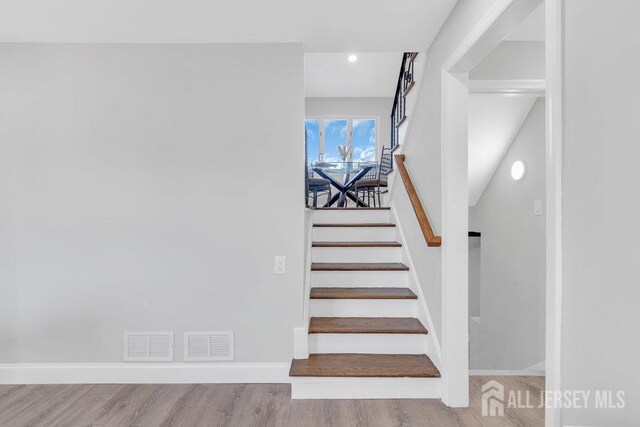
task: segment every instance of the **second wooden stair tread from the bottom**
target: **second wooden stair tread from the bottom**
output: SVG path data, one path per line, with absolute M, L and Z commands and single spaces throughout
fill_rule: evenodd
M 427 334 L 413 317 L 312 317 L 310 334 Z

